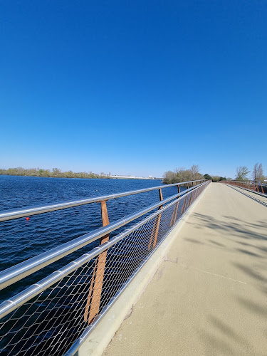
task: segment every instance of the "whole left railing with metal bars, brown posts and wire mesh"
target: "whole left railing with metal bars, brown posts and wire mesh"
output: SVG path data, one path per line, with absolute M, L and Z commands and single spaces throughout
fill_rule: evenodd
M 184 192 L 179 192 L 181 184 L 172 184 L 171 186 L 177 185 L 178 194 L 167 199 L 162 197 L 162 188 L 169 186 L 128 192 L 137 194 L 136 192 L 159 189 L 159 202 L 112 224 L 108 221 L 106 199 L 123 197 L 126 193 L 98 197 L 98 201 L 101 201 L 102 228 L 2 271 L 1 288 L 6 288 L 88 245 L 87 253 L 21 293 L 14 292 L 14 296 L 1 303 L 1 355 L 73 355 L 210 181 L 197 182 L 185 182 L 187 189 Z M 192 187 L 189 188 L 189 184 Z M 70 207 L 74 206 L 72 204 L 93 202 L 92 199 L 86 201 L 66 204 Z M 66 209 L 66 205 L 55 205 L 46 206 L 46 211 L 55 210 L 55 207 Z M 36 211 L 33 214 L 44 212 L 44 207 L 34 209 Z M 27 216 L 28 211 L 29 209 L 17 211 L 17 215 L 13 211 L 13 217 L 6 216 L 8 219 L 16 219 Z M 145 216 L 150 211 L 152 213 Z M 140 216 L 145 218 L 109 239 L 111 231 Z M 90 242 L 95 239 L 101 239 L 100 246 L 90 251 Z

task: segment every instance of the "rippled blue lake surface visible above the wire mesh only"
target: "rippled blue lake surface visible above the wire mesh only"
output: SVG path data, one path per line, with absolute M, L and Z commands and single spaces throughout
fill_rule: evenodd
M 107 194 L 157 187 L 159 185 L 162 185 L 161 181 L 153 179 L 64 179 L 0 176 L 0 211 L 53 202 L 101 197 Z M 177 194 L 177 187 L 169 187 L 163 189 L 162 192 L 163 197 L 167 198 Z M 107 203 L 110 222 L 157 201 L 159 201 L 158 190 L 112 199 Z M 132 224 L 135 224 L 135 222 Z M 98 229 L 100 226 L 102 226 L 100 203 L 30 216 L 29 221 L 21 218 L 0 222 L 0 271 L 89 231 Z M 110 234 L 110 237 L 115 236 L 115 234 L 124 229 L 125 227 L 123 226 L 120 230 L 114 231 Z M 83 253 L 98 246 L 98 244 L 99 241 L 94 241 L 90 246 L 85 246 L 79 251 L 71 253 L 70 256 L 63 258 L 63 261 L 53 263 L 51 266 L 34 273 L 32 277 L 21 281 L 21 283 L 16 283 L 16 287 L 19 285 L 19 290 L 25 288 L 29 283 L 34 283 L 36 279 L 39 280 L 47 276 L 47 273 L 64 266 L 74 258 L 78 258 Z M 0 295 L 0 297 L 3 297 L 3 295 Z

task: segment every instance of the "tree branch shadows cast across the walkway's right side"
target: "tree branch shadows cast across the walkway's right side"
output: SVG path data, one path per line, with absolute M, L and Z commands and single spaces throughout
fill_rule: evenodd
M 267 265 L 265 262 L 267 220 L 258 219 L 251 222 L 227 215 L 222 216 L 222 219 L 216 219 L 195 212 L 188 224 L 192 224 L 197 229 L 207 229 L 207 234 L 201 241 L 186 238 L 185 240 L 189 243 L 199 244 L 200 242 L 207 247 L 233 253 L 232 261 L 231 255 L 229 257 L 231 266 L 244 275 L 244 281 L 249 285 L 249 290 L 247 293 L 246 289 L 243 292 L 236 290 L 236 293 L 230 291 L 229 298 L 239 305 L 240 315 L 244 314 L 244 323 L 246 323 L 245 320 L 251 320 L 252 334 L 261 335 L 265 339 L 263 340 L 265 345 L 267 337 L 267 328 L 264 326 L 267 318 Z M 211 237 L 209 229 L 213 233 L 218 231 L 218 241 L 214 234 Z M 253 290 L 255 290 L 255 296 Z M 244 293 L 244 296 L 241 293 Z M 237 328 L 235 320 L 229 315 L 226 318 L 219 313 L 216 315 L 214 308 L 212 315 L 206 315 L 206 323 L 208 327 L 197 332 L 207 347 L 207 355 L 264 355 L 264 352 L 258 353 L 251 337 L 246 339 L 245 333 Z

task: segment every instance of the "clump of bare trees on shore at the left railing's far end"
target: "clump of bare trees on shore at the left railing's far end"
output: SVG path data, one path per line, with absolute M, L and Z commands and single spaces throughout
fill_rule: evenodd
M 211 176 L 209 174 L 202 175 L 199 173 L 199 164 L 193 164 L 189 169 L 184 167 L 178 167 L 174 171 L 167 171 L 163 174 L 162 183 L 174 184 L 180 182 L 189 182 L 199 179 L 212 179 L 213 182 L 219 182 L 220 180 L 226 180 L 226 177 Z

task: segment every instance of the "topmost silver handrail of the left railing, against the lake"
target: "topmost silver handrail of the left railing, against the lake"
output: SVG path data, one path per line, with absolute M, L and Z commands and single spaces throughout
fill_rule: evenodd
M 8 210 L 8 211 L 0 211 L 0 221 L 19 219 L 24 216 L 48 213 L 49 211 L 67 209 L 67 208 L 71 208 L 73 206 L 92 204 L 92 203 L 98 203 L 99 201 L 103 201 L 103 200 L 127 197 L 127 196 L 133 195 L 133 194 L 150 192 L 152 190 L 159 189 L 159 188 L 160 189 L 169 188 L 169 187 L 174 187 L 174 186 L 187 184 L 187 183 L 194 183 L 194 182 L 205 182 L 206 180 L 207 179 L 199 179 L 199 180 L 194 180 L 194 181 L 189 181 L 189 182 L 181 182 L 181 183 L 160 185 L 158 187 L 150 187 L 150 188 L 145 188 L 145 189 L 132 190 L 130 192 L 122 192 L 122 193 L 117 193 L 117 194 L 103 195 L 103 197 L 95 197 L 95 198 L 75 200 L 75 201 L 66 201 L 65 203 L 49 204 L 49 205 L 44 205 L 44 206 L 32 206 L 32 207 L 28 207 L 26 209 L 14 209 L 14 210 Z

